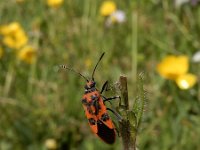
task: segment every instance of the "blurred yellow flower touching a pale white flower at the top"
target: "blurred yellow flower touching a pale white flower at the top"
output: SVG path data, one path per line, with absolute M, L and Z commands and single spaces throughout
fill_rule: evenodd
M 100 14 L 102 16 L 109 16 L 117 9 L 116 4 L 113 1 L 107 0 L 103 2 L 100 8 Z

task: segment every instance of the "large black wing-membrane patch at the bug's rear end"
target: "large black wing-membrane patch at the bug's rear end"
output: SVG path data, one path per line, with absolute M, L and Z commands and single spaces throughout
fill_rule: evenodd
M 115 142 L 115 130 L 107 127 L 102 121 L 97 121 L 97 135 L 106 143 L 113 144 Z

